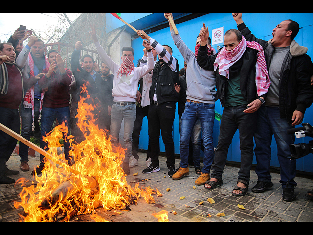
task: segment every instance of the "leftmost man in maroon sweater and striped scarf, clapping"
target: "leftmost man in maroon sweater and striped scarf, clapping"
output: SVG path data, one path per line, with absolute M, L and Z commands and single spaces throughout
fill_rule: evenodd
M 15 49 L 11 43 L 0 44 L 0 123 L 16 133 L 20 133 L 19 105 L 24 97 L 24 89 L 32 87 L 39 77 L 25 79 L 22 70 L 15 64 Z M 0 131 L 0 184 L 15 183 L 8 175 L 19 174 L 9 170 L 9 160 L 17 140 Z

